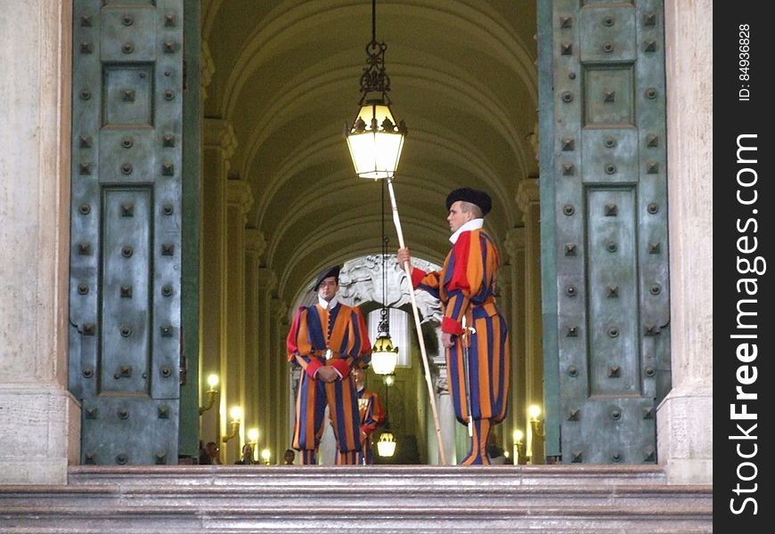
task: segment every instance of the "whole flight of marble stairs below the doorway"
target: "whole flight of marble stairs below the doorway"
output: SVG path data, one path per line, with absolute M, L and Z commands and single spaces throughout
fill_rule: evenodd
M 0 486 L 0 533 L 700 533 L 712 498 L 656 465 L 74 466 Z

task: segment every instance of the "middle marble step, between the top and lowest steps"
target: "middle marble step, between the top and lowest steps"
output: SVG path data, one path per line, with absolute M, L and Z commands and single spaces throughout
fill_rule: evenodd
M 36 506 L 72 507 L 93 506 L 112 509 L 136 509 L 143 506 L 200 506 L 203 509 L 221 506 L 282 507 L 298 506 L 299 496 L 314 494 L 315 506 L 337 507 L 342 500 L 357 502 L 365 507 L 379 508 L 386 501 L 391 506 L 469 506 L 486 500 L 488 506 L 632 506 L 654 507 L 662 510 L 682 509 L 705 500 L 710 505 L 712 489 L 706 486 L 657 486 L 654 484 L 619 484 L 616 486 L 583 486 L 576 484 L 526 486 L 407 487 L 373 485 L 368 490 L 339 484 L 276 485 L 143 485 L 80 484 L 61 487 L 0 486 L 3 506 L 28 506 L 30 499 Z

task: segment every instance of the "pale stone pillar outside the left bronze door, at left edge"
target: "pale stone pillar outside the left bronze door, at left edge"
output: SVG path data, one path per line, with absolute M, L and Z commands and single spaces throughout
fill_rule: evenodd
M 0 484 L 66 484 L 71 3 L 0 11 Z

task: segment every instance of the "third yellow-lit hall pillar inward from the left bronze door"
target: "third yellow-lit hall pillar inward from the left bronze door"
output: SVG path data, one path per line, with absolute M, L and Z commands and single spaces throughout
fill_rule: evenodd
M 259 291 L 258 291 L 258 270 L 261 267 L 261 256 L 266 249 L 266 239 L 264 234 L 256 229 L 249 228 L 245 230 L 245 432 L 250 428 L 258 428 L 259 433 L 264 433 L 261 429 L 261 417 L 259 413 L 260 405 L 258 403 L 258 376 L 261 368 L 258 363 L 258 344 L 259 332 L 258 324 L 260 321 L 259 310 Z M 258 441 L 263 440 L 259 434 Z M 258 454 L 258 453 L 256 453 Z M 257 458 L 260 458 L 257 456 Z

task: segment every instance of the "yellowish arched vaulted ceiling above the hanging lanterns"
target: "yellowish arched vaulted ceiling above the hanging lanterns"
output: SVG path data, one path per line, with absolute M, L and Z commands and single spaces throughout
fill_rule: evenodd
M 204 0 L 205 117 L 234 129 L 247 226 L 292 303 L 314 273 L 381 250 L 380 182 L 359 180 L 343 137 L 358 111 L 370 0 Z M 377 40 L 396 119 L 409 128 L 395 179 L 404 239 L 442 263 L 445 197 L 487 190 L 498 242 L 522 226 L 518 183 L 538 174 L 534 0 L 378 0 Z M 386 201 L 388 252 L 398 246 Z

